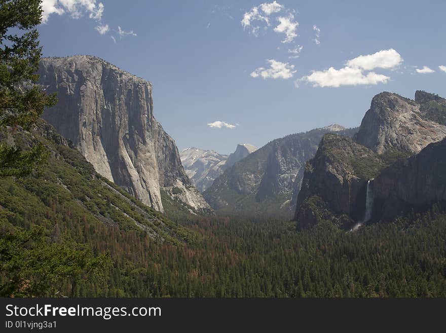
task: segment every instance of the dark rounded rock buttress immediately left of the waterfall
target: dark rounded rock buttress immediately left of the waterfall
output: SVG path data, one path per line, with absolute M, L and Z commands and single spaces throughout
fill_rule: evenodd
M 324 135 L 315 157 L 305 168 L 294 216 L 298 225 L 306 227 L 317 223 L 315 216 L 319 216 L 319 212 L 310 212 L 311 208 L 321 208 L 319 204 L 319 208 L 312 207 L 315 197 L 325 202 L 333 214 L 346 215 L 353 225 L 364 214 L 367 181 L 385 166 L 375 152 L 351 138 L 331 133 Z

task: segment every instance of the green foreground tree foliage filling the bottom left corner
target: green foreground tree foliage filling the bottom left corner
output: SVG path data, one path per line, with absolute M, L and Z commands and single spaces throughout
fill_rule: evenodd
M 105 254 L 95 257 L 89 246 L 60 237 L 52 242 L 42 226 L 25 230 L 1 220 L 0 227 L 0 295 L 74 297 L 83 279 L 107 287 L 111 263 Z

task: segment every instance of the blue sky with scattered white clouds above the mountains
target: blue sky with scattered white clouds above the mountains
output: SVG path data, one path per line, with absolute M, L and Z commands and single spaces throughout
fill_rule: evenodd
M 44 0 L 43 56 L 100 57 L 153 85 L 178 149 L 229 154 L 337 123 L 382 91 L 446 97 L 446 2 Z

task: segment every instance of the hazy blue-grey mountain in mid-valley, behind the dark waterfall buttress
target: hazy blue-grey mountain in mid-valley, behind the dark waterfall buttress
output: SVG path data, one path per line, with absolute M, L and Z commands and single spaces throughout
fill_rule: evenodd
M 273 140 L 225 170 L 203 196 L 223 212 L 291 216 L 305 163 L 316 153 L 322 136 L 333 131 L 352 136 L 356 130 L 333 124 Z

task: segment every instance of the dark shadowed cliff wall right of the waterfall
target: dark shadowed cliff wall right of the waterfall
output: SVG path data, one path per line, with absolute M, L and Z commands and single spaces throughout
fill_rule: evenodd
M 446 139 L 384 169 L 372 182 L 373 219 L 391 220 L 411 210 L 446 208 Z

